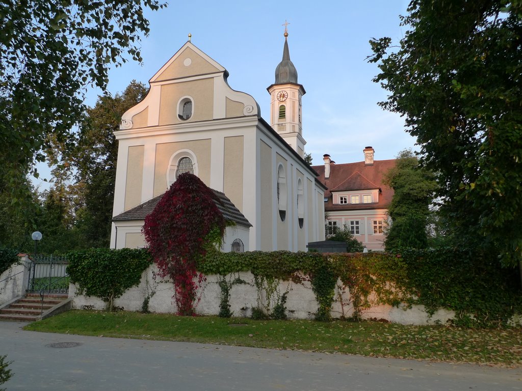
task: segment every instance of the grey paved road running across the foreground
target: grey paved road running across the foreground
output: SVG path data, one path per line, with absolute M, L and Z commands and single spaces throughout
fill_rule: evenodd
M 23 331 L 0 322 L 14 390 L 522 390 L 522 369 Z M 78 343 L 52 348 L 49 344 Z

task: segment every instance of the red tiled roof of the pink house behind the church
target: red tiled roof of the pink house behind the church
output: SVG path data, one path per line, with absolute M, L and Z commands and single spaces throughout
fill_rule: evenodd
M 345 211 L 345 210 L 366 210 L 366 209 L 387 209 L 394 194 L 393 189 L 383 184 L 384 175 L 390 168 L 395 167 L 395 159 L 375 160 L 373 165 L 366 165 L 364 162 L 330 164 L 330 176 L 325 179 L 325 166 L 312 166 L 319 174 L 317 179 L 324 184 L 328 190 L 325 197 L 325 211 Z M 331 193 L 338 191 L 354 190 L 374 190 L 380 189 L 379 202 L 371 204 L 347 204 L 334 205 Z

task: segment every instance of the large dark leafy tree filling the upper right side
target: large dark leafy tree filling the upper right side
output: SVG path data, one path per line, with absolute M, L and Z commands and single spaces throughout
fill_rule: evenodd
M 522 2 L 412 0 L 408 13 L 398 47 L 370 41 L 381 106 L 417 137 L 448 232 L 520 262 Z

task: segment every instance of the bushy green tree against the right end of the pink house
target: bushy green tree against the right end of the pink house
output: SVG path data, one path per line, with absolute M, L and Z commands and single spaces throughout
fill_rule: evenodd
M 395 167 L 386 173 L 384 184 L 394 190 L 388 207 L 391 225 L 386 233 L 386 251 L 426 248 L 430 204 L 436 190 L 435 175 L 419 166 L 411 150 L 404 150 L 397 156 Z

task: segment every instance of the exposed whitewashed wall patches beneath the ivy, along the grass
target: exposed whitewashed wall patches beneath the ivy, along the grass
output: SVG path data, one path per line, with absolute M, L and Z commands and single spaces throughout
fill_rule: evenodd
M 149 267 L 143 273 L 139 286 L 127 290 L 121 298 L 115 300 L 115 305 L 127 311 L 140 311 L 144 299 L 149 296 L 149 311 L 176 313 L 173 284 L 155 277 L 156 273 L 156 266 Z M 217 315 L 221 298 L 218 282 L 223 277 L 217 275 L 206 277 L 206 282 L 198 290 L 201 299 L 197 304 L 196 313 L 200 315 Z M 267 297 L 265 285 L 258 303 L 258 292 L 252 273 L 233 273 L 224 276 L 224 278 L 229 283 L 235 281 L 230 290 L 230 310 L 233 316 L 250 317 L 252 309 L 259 305 L 269 313 L 274 308 L 278 298 L 285 292 L 287 292 L 286 313 L 290 319 L 313 319 L 317 311 L 318 304 L 309 281 L 303 281 L 302 283 L 280 281 L 271 297 Z M 348 288 L 342 287 L 340 281 L 337 285 L 331 315 L 334 318 L 349 317 L 353 314 L 353 306 Z M 69 287 L 69 297 L 74 298 L 73 307 L 76 309 L 90 308 L 101 310 L 105 308 L 105 303 L 101 299 L 76 295 L 74 284 L 71 284 Z M 453 311 L 439 310 L 430 317 L 424 311 L 423 306 L 397 308 L 383 304 L 365 310 L 362 314 L 363 319 L 385 319 L 390 322 L 413 325 L 444 324 L 454 316 L 455 313 Z

